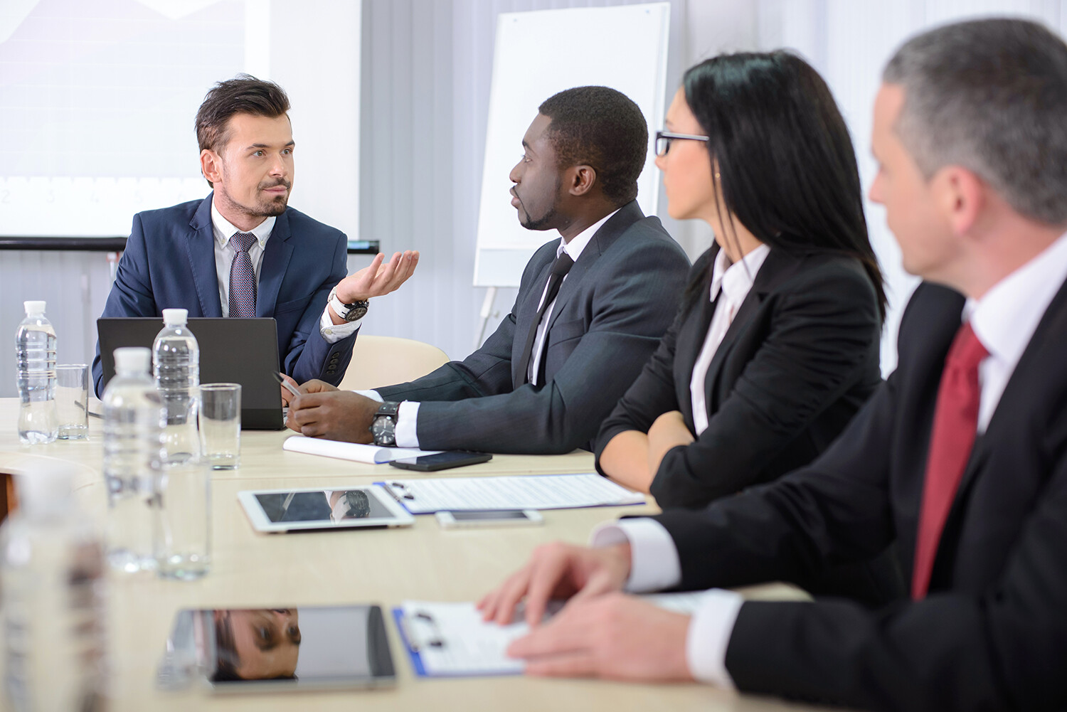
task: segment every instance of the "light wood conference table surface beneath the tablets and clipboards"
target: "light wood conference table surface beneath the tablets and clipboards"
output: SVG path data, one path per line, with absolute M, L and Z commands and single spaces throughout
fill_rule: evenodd
M 99 412 L 99 402 L 91 410 Z M 74 477 L 81 507 L 97 522 L 107 513 L 102 422 L 90 418 L 89 439 L 20 445 L 18 399 L 0 398 L 0 473 L 32 475 L 62 466 Z M 592 456 L 497 455 L 489 462 L 423 475 L 388 465 L 290 453 L 282 443 L 292 433 L 241 433 L 241 464 L 211 475 L 212 563 L 195 582 L 160 580 L 148 573 L 109 572 L 107 635 L 112 710 L 700 710 L 777 712 L 809 706 L 738 695 L 701 684 L 636 684 L 602 680 L 538 679 L 522 676 L 419 678 L 392 618 L 389 645 L 397 668 L 395 687 L 273 695 L 213 695 L 204 687 L 163 692 L 155 686 L 175 612 L 180 608 L 271 608 L 379 603 L 386 610 L 408 599 L 473 601 L 517 568 L 535 547 L 553 540 L 583 543 L 598 523 L 631 513 L 654 513 L 653 504 L 557 509 L 542 512 L 543 526 L 442 529 L 432 516 L 414 526 L 290 535 L 258 534 L 237 502 L 248 489 L 366 485 L 402 474 L 410 477 L 564 474 L 592 472 Z M 62 674 L 59 673 L 58 674 Z M 2 696 L 0 696 L 2 700 Z M 0 705 L 3 705 L 0 701 Z

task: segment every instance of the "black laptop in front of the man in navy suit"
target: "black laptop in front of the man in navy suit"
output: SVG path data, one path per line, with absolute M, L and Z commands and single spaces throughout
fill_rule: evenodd
M 162 317 L 97 319 L 103 384 L 115 375 L 116 348 L 146 346 L 150 349 L 162 328 Z M 282 394 L 274 380 L 278 370 L 274 319 L 190 318 L 189 331 L 200 344 L 201 383 L 241 384 L 241 428 L 284 428 Z

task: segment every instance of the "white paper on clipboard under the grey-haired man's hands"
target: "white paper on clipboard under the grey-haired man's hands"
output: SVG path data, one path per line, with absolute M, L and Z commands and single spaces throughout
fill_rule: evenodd
M 703 601 L 706 591 L 684 594 L 656 594 L 641 598 L 655 605 L 676 613 L 691 614 Z M 550 605 L 550 618 L 563 605 L 562 601 Z M 529 631 L 522 612 L 510 626 L 487 623 L 474 603 L 434 603 L 431 601 L 404 601 L 403 636 L 414 644 L 427 675 L 519 675 L 525 663 L 508 658 L 512 640 Z

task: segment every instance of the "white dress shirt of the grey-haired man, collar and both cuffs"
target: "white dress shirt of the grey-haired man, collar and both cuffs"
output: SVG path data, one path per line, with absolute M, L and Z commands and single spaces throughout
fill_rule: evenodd
M 968 319 L 989 357 L 978 365 L 982 395 L 978 432 L 985 432 L 1022 352 L 1053 297 L 1067 282 L 1067 235 L 998 282 L 982 299 L 969 299 Z M 676 586 L 682 567 L 674 540 L 659 522 L 626 519 L 601 524 L 591 543 L 608 547 L 628 541 L 632 551 L 626 590 L 642 592 Z M 694 678 L 733 689 L 726 655 L 744 600 L 739 594 L 712 589 L 689 620 L 686 664 Z

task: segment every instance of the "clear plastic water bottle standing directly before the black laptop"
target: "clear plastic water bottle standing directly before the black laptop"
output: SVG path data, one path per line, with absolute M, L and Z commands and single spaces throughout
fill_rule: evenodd
M 168 425 L 196 423 L 200 345 L 189 331 L 188 310 L 163 310 L 163 330 L 152 347 L 156 387 L 163 398 Z

